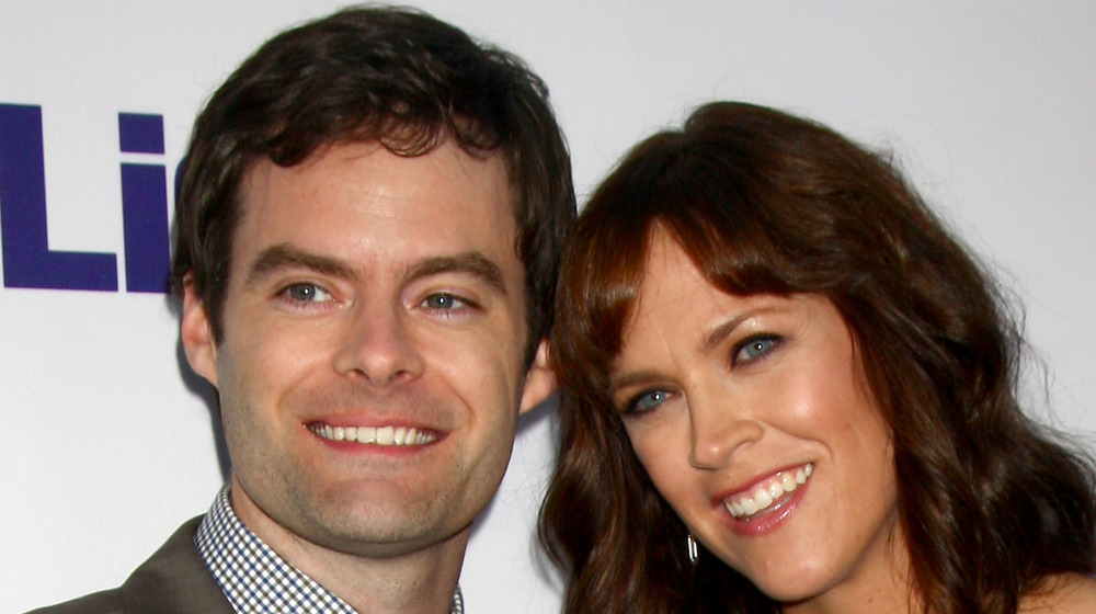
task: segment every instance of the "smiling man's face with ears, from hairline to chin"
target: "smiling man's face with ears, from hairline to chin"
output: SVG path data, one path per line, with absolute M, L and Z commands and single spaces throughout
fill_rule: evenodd
M 260 536 L 361 556 L 464 546 L 518 409 L 551 387 L 543 351 L 523 365 L 512 207 L 503 161 L 452 144 L 336 145 L 248 173 L 222 338 L 190 287 L 182 337 L 219 390 L 232 504 Z

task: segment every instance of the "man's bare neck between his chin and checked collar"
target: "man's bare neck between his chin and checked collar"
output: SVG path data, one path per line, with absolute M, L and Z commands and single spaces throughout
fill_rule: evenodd
M 368 557 L 305 539 L 259 509 L 233 481 L 240 521 L 286 562 L 362 614 L 448 614 L 470 528 L 415 552 Z

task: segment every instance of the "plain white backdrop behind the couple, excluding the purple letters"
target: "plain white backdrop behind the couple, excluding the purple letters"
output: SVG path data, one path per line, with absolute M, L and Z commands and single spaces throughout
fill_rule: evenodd
M 670 4 L 420 5 L 545 78 L 580 198 L 627 147 L 713 98 L 790 109 L 895 151 L 1026 306 L 1050 418 L 1096 431 L 1096 2 Z M 49 248 L 116 254 L 123 288 L 0 287 L 0 611 L 116 585 L 208 508 L 222 477 L 204 387 L 179 359 L 175 308 L 125 291 L 119 164 L 173 173 L 228 72 L 274 32 L 336 5 L 0 4 L 0 104 L 42 109 Z M 164 154 L 121 154 L 119 112 L 162 115 Z M 470 612 L 558 609 L 533 538 L 549 414 L 523 424 L 473 535 Z

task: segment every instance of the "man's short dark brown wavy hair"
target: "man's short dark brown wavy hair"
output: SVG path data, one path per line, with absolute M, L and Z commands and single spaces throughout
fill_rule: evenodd
M 352 8 L 286 31 L 214 93 L 184 162 L 172 288 L 182 296 L 189 278 L 219 341 L 240 185 L 255 162 L 292 167 L 355 141 L 419 156 L 449 139 L 505 160 L 532 357 L 551 325 L 560 242 L 575 215 L 547 88 L 513 55 L 410 9 Z

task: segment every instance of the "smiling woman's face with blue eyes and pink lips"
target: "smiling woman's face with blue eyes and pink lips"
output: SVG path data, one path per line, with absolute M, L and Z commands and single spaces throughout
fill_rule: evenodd
M 859 361 L 829 299 L 724 294 L 657 230 L 610 395 L 693 534 L 777 601 L 878 587 L 904 556 Z

